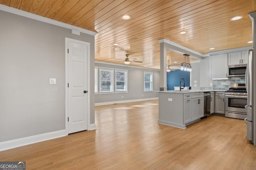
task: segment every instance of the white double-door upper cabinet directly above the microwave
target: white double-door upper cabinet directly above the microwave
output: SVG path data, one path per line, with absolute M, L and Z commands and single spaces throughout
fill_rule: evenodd
M 239 51 L 235 53 L 228 53 L 228 65 L 247 64 L 248 52 Z

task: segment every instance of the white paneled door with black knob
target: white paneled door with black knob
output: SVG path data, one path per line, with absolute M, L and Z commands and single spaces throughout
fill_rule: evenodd
M 89 44 L 68 41 L 68 133 L 87 130 Z

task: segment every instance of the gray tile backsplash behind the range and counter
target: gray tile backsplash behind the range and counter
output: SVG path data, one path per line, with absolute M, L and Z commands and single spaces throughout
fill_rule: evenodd
M 227 80 L 212 80 L 213 90 L 228 90 L 230 83 L 245 83 L 245 77 L 231 77 Z

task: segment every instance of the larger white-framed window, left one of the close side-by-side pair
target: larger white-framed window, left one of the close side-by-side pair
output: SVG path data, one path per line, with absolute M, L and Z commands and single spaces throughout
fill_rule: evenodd
M 100 67 L 100 93 L 114 92 L 114 68 Z

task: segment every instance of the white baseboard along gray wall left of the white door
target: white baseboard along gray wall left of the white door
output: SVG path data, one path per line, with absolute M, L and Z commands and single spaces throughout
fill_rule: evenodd
M 65 129 L 63 129 L 60 131 L 43 133 L 40 135 L 34 135 L 34 136 L 24 137 L 24 138 L 20 138 L 20 139 L 14 139 L 14 140 L 10 140 L 10 141 L 0 142 L 0 151 L 12 149 L 12 148 L 16 148 L 16 147 L 22 147 L 24 145 L 30 145 L 30 144 L 38 143 L 38 142 L 42 142 L 42 141 L 47 141 L 47 140 L 55 139 L 58 137 L 64 137 L 64 136 L 66 136 L 65 132 L 66 132 Z

